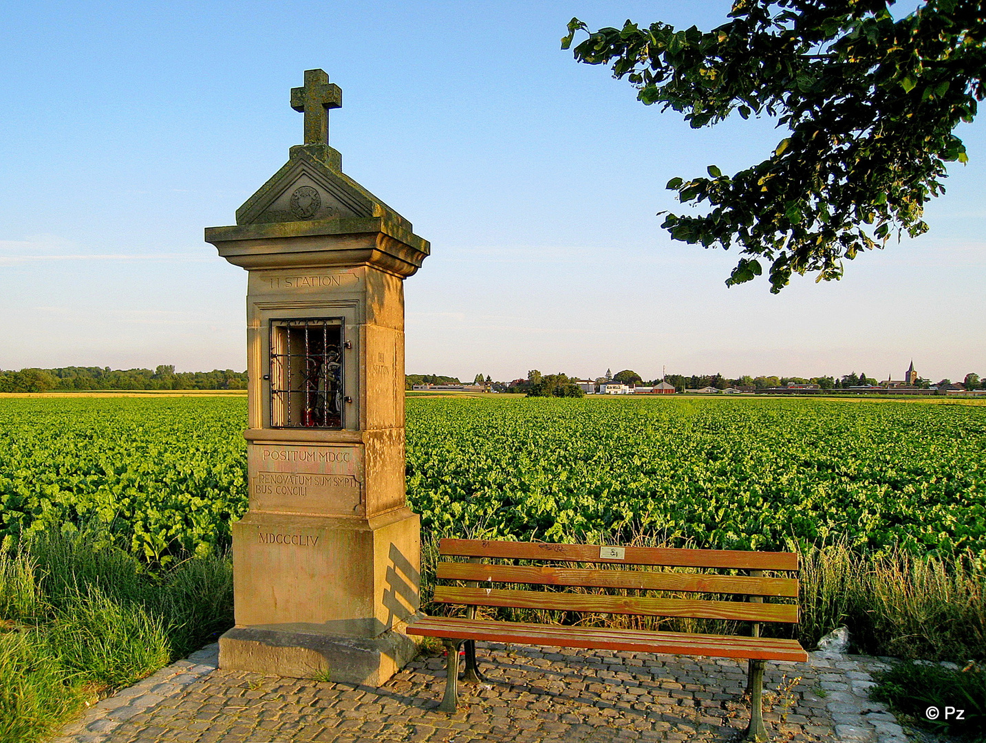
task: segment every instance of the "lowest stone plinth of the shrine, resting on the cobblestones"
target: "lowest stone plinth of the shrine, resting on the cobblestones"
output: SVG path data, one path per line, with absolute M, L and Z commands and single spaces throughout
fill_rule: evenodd
M 219 639 L 219 667 L 380 686 L 417 651 L 416 642 L 393 630 L 378 638 L 337 638 L 235 627 Z

